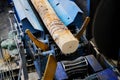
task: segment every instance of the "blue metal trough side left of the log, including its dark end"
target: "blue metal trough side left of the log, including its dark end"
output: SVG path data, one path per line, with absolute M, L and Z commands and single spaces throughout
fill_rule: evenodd
M 43 32 L 43 25 L 38 21 L 27 0 L 13 0 L 15 11 L 19 22 L 22 23 L 23 30 L 30 29 L 32 33 L 37 30 Z

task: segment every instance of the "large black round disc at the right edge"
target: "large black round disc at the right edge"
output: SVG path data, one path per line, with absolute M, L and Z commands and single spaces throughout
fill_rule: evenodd
M 108 58 L 118 59 L 120 47 L 119 2 L 101 0 L 93 20 L 93 36 L 100 52 Z

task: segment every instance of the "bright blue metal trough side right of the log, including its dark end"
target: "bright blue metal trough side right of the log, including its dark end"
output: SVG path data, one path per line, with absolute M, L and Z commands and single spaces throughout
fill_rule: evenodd
M 80 27 L 82 10 L 71 0 L 48 0 L 60 20 L 66 25 Z

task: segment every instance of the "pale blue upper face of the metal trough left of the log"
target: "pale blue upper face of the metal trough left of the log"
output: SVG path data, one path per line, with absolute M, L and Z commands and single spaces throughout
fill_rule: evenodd
M 13 3 L 20 21 L 26 18 L 34 29 L 43 31 L 42 23 L 36 18 L 27 0 L 13 0 Z

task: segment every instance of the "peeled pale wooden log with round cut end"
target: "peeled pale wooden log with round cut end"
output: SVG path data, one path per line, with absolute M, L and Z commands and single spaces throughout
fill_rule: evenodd
M 60 21 L 47 0 L 31 0 L 53 40 L 64 54 L 76 51 L 79 41 Z

